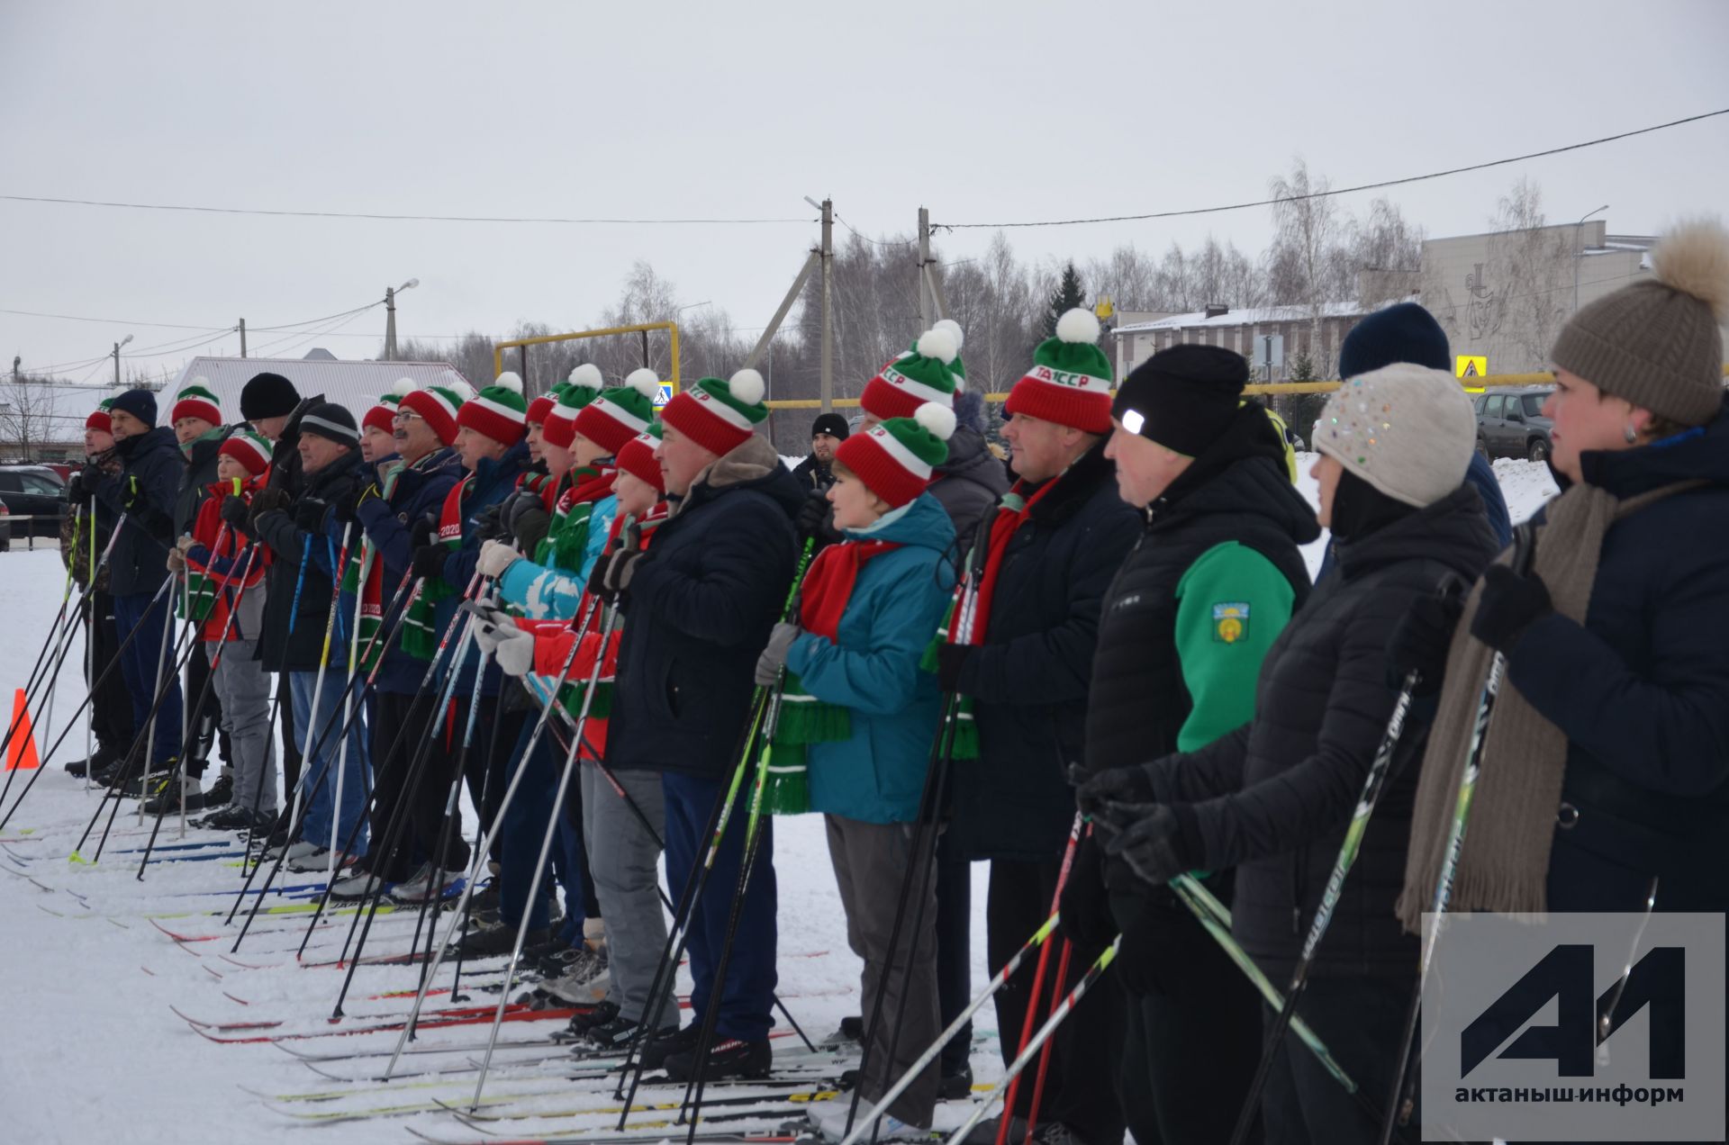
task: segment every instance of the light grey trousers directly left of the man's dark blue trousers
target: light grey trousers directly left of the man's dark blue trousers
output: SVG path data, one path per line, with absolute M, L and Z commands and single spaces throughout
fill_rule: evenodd
M 629 804 L 593 763 L 579 770 L 583 782 L 583 842 L 588 877 L 595 880 L 600 917 L 607 920 L 607 967 L 612 984 L 607 1001 L 619 1017 L 647 1020 L 652 1029 L 678 1022 L 678 998 L 667 993 L 659 1015 L 643 1017 L 648 989 L 666 950 L 666 913 L 660 908 L 660 844 L 666 837 L 666 799 L 659 771 L 616 771 L 619 787 L 636 803 L 654 834 L 643 828 Z

